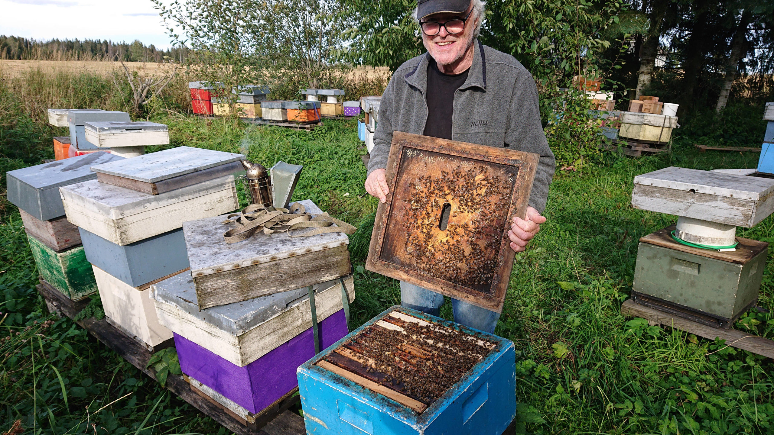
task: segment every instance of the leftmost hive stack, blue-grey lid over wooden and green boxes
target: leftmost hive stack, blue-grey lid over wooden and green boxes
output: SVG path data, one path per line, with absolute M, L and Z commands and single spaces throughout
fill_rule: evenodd
M 9 171 L 8 200 L 19 207 L 38 272 L 58 299 L 77 302 L 97 291 L 75 225 L 65 217 L 59 187 L 94 180 L 94 164 L 123 160 L 107 152 Z

